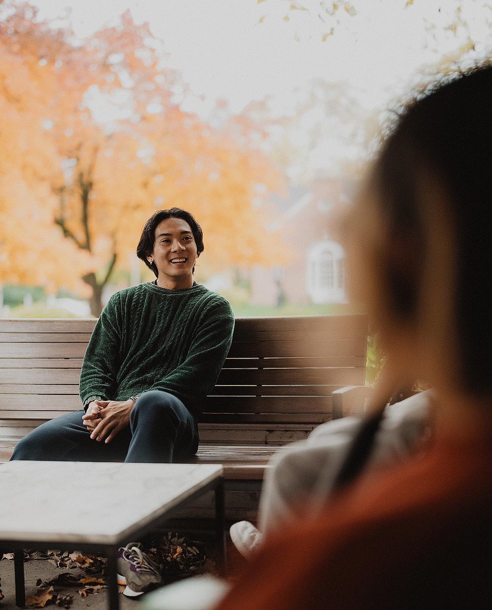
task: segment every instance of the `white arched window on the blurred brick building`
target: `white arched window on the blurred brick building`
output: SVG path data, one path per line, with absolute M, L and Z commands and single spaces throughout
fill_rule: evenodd
M 313 303 L 346 303 L 343 249 L 337 242 L 316 242 L 307 255 L 307 293 Z

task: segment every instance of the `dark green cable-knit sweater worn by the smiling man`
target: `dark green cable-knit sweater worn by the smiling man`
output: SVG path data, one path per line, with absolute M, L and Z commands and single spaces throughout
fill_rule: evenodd
M 85 352 L 79 386 L 84 408 L 91 400 L 128 400 L 163 390 L 197 417 L 233 330 L 229 303 L 199 284 L 168 290 L 146 282 L 116 292 Z

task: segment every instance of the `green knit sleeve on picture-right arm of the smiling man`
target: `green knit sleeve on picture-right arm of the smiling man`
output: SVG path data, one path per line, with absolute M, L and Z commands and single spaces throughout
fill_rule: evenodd
M 149 390 L 163 390 L 179 398 L 195 415 L 212 391 L 232 343 L 234 314 L 227 301 L 207 309 L 201 317 L 187 357 Z

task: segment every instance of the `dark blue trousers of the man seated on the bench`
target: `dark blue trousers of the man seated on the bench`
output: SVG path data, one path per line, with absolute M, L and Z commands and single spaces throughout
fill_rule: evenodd
M 141 394 L 130 425 L 107 444 L 90 438 L 82 415 L 80 409 L 43 423 L 17 443 L 11 459 L 169 464 L 186 461 L 198 449 L 193 415 L 167 392 Z

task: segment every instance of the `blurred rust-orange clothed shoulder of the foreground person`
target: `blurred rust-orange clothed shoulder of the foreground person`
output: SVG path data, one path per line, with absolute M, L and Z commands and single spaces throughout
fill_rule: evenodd
M 488 608 L 492 436 L 441 438 L 265 540 L 220 610 Z

